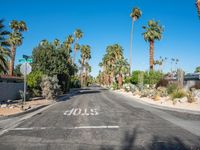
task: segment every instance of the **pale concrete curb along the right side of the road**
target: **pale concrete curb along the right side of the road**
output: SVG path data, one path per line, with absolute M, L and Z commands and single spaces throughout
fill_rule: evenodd
M 109 91 L 113 92 L 113 93 L 117 93 L 117 94 L 123 95 L 123 96 L 126 96 L 128 98 L 131 98 L 131 100 L 134 100 L 135 102 L 138 102 L 138 103 L 141 103 L 141 104 L 144 104 L 144 105 L 147 105 L 147 106 L 151 106 L 151 107 L 154 107 L 154 108 L 157 108 L 157 109 L 175 111 L 175 112 L 180 112 L 180 113 L 188 113 L 188 114 L 194 114 L 194 115 L 200 115 L 200 110 L 199 111 L 195 111 L 195 110 L 190 110 L 190 109 L 182 109 L 182 108 L 172 108 L 172 107 L 168 107 L 168 106 L 160 106 L 160 105 L 148 103 L 146 101 L 142 101 L 141 99 L 133 97 L 133 96 L 124 95 L 123 93 L 119 93 L 117 91 L 113 91 L 113 90 L 110 90 L 110 89 L 109 89 Z

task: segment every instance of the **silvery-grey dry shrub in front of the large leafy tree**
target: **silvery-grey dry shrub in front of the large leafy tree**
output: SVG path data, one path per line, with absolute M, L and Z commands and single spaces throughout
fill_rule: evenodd
M 56 76 L 43 76 L 41 82 L 42 96 L 48 100 L 55 99 L 60 94 L 60 85 Z

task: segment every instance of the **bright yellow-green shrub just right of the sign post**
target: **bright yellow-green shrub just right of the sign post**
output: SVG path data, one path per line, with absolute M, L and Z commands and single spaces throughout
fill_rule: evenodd
M 40 83 L 42 81 L 43 73 L 41 71 L 33 71 L 27 77 L 27 85 L 32 97 L 41 96 Z

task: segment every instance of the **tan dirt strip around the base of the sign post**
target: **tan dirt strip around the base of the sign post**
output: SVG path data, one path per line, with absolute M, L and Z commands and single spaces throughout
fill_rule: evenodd
M 49 101 L 46 99 L 31 100 L 25 103 L 24 108 L 27 110 L 27 109 L 36 108 L 43 105 L 49 105 L 50 103 L 52 103 L 52 101 Z M 2 104 L 2 105 L 5 105 L 5 104 Z M 0 116 L 8 116 L 8 115 L 24 112 L 25 110 L 22 110 L 21 107 L 22 107 L 21 103 L 7 104 L 7 106 L 4 108 L 0 107 Z

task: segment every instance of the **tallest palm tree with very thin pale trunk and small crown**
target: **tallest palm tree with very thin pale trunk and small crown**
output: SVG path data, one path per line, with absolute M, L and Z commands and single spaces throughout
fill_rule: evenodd
M 134 23 L 142 16 L 142 11 L 139 8 L 133 8 L 130 17 L 132 19 L 132 26 L 131 26 L 131 42 L 130 42 L 130 73 L 131 73 L 131 65 L 132 65 L 132 47 L 133 47 L 133 28 Z

